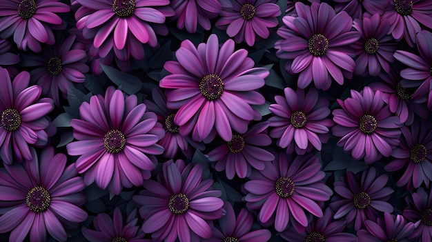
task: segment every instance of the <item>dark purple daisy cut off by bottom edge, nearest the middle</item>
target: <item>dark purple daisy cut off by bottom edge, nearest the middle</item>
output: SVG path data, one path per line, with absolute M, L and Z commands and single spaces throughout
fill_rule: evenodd
M 204 242 L 265 242 L 270 239 L 271 232 L 268 230 L 251 231 L 253 214 L 245 208 L 240 210 L 237 217 L 227 201 L 224 202 L 223 208 L 226 214 L 219 219 L 220 230 L 213 228 L 211 238 L 204 239 Z

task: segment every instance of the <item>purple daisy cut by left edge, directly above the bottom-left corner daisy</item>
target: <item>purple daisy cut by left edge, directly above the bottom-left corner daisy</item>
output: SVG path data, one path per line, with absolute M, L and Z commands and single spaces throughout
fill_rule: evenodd
M 12 82 L 8 70 L 0 68 L 0 83 L 0 157 L 6 165 L 30 161 L 34 157 L 29 145 L 48 143 L 50 122 L 45 116 L 54 109 L 52 99 L 39 99 L 41 87 L 28 86 L 28 72 L 20 72 Z

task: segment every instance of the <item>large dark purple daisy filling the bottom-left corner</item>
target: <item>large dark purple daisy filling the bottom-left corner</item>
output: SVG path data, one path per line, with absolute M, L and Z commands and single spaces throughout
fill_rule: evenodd
M 75 164 L 66 167 L 66 155 L 55 154 L 54 148 L 34 157 L 0 168 L 0 233 L 12 231 L 10 241 L 24 241 L 28 232 L 30 241 L 47 241 L 48 231 L 56 241 L 66 241 L 63 225 L 71 229 L 87 218 L 79 208 L 86 201 L 80 192 L 86 185 Z

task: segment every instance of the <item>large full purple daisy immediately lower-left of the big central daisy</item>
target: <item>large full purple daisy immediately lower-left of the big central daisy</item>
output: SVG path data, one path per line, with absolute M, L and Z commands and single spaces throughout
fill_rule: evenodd
M 150 178 L 157 165 L 154 155 L 164 152 L 157 141 L 165 132 L 144 103 L 109 87 L 105 97 L 93 96 L 90 103 L 82 103 L 79 114 L 81 119 L 70 122 L 78 141 L 66 148 L 68 154 L 80 156 L 77 170 L 84 173 L 86 185 L 96 181 L 99 188 L 109 185 L 112 194 L 119 194 L 121 186 L 139 186 Z

